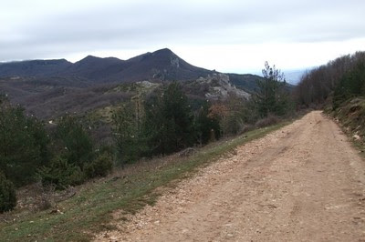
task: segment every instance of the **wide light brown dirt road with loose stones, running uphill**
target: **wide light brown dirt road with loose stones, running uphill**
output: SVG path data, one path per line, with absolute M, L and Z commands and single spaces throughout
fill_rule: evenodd
M 365 241 L 365 162 L 320 112 L 239 146 L 100 241 Z M 118 213 L 115 215 L 118 217 Z

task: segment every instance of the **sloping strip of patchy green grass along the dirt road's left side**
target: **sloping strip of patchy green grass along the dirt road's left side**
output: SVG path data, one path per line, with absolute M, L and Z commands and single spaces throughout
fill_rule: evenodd
M 198 167 L 208 165 L 236 146 L 266 136 L 289 122 L 255 129 L 230 140 L 204 146 L 188 157 L 177 155 L 142 162 L 81 187 L 75 197 L 57 205 L 60 212 L 46 210 L 13 215 L 0 221 L 0 241 L 89 241 L 93 233 L 111 228 L 111 213 L 122 209 L 135 213 L 159 196 L 155 188 L 172 185 L 191 176 Z

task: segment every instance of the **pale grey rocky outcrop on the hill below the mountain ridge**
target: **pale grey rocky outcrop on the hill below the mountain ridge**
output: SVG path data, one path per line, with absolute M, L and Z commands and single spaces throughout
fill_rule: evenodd
M 229 81 L 229 76 L 217 73 L 208 75 L 207 77 L 200 77 L 196 80 L 200 85 L 208 85 L 208 92 L 205 97 L 212 100 L 225 99 L 230 95 L 239 96 L 245 99 L 250 98 L 250 94 L 245 91 L 236 88 Z

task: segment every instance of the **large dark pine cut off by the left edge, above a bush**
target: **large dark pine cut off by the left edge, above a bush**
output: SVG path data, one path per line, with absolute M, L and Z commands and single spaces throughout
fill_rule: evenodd
M 33 180 L 48 162 L 48 137 L 43 124 L 26 116 L 21 106 L 0 98 L 0 169 L 16 186 Z

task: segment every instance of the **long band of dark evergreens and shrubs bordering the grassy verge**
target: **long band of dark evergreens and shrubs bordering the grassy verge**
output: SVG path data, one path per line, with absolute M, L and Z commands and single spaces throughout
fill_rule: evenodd
M 142 157 L 204 146 L 290 116 L 294 105 L 283 73 L 266 63 L 263 76 L 248 100 L 229 96 L 192 103 L 179 82 L 133 96 L 115 108 L 108 145 L 94 140 L 93 130 L 78 116 L 65 114 L 46 123 L 1 96 L 0 212 L 16 206 L 16 187 L 35 182 L 55 189 L 77 186 Z

